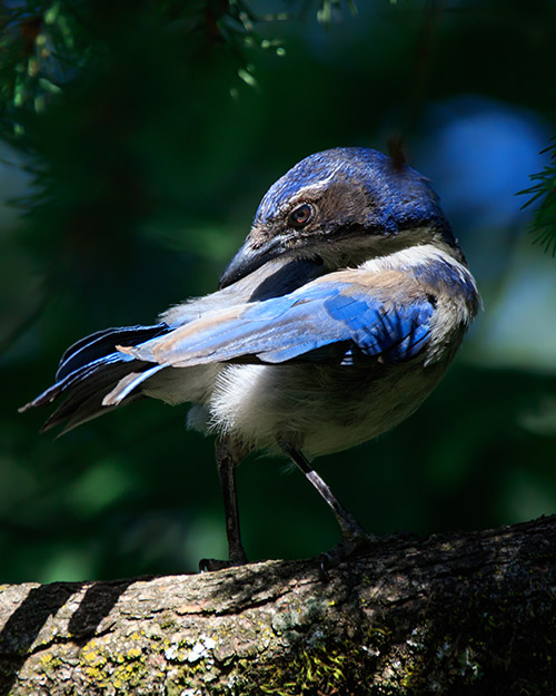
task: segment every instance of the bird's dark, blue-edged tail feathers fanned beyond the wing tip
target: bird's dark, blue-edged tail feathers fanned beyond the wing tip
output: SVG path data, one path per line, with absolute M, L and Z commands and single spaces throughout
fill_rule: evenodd
M 63 424 L 64 433 L 119 405 L 142 399 L 137 388 L 163 365 L 153 366 L 152 363 L 135 360 L 120 353 L 116 346 L 139 345 L 170 331 L 168 324 L 123 326 L 106 329 L 81 339 L 63 353 L 54 384 L 21 406 L 19 412 L 43 406 L 64 395 L 66 400 L 41 428 L 44 432 Z M 110 399 L 116 386 L 121 385 L 121 380 L 126 380 L 127 388 L 119 391 L 117 399 Z

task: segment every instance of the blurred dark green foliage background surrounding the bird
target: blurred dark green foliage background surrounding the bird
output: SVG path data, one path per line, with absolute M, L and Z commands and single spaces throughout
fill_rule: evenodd
M 312 151 L 401 144 L 418 164 L 430 108 L 460 95 L 554 112 L 554 2 L 357 4 L 0 3 L 1 581 L 179 572 L 226 551 L 212 442 L 186 408 L 141 402 L 59 440 L 38 434 L 44 413 L 17 414 L 67 345 L 214 290 L 265 190 Z M 485 313 L 411 419 L 318 462 L 376 532 L 556 510 L 554 262 L 527 218 L 453 222 Z M 254 559 L 337 540 L 280 460 L 249 458 L 239 496 Z

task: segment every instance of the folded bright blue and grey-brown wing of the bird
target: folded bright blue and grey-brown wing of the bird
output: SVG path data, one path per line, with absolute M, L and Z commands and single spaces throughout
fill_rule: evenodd
M 173 366 L 209 362 L 284 363 L 357 356 L 414 357 L 430 334 L 434 300 L 398 302 L 355 283 L 316 282 L 288 295 L 211 313 L 166 336 L 125 349 L 136 359 Z M 403 301 L 405 300 L 405 301 Z

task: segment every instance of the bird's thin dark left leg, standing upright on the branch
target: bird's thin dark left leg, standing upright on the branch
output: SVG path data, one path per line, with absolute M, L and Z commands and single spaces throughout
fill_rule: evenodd
M 238 498 L 236 493 L 236 467 L 239 464 L 239 457 L 236 455 L 231 443 L 224 438 L 217 439 L 215 453 L 224 494 L 228 560 L 203 558 L 199 562 L 200 570 L 219 570 L 247 563 L 247 556 L 241 543 Z

